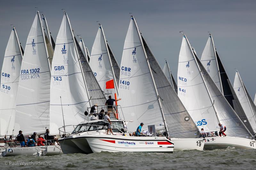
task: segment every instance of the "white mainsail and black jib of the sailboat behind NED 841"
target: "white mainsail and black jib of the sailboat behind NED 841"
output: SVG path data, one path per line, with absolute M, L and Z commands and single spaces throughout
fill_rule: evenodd
M 209 34 L 208 41 L 201 57 L 201 62 L 208 74 L 212 77 L 215 84 L 218 86 L 220 92 L 225 96 L 230 106 L 243 121 L 246 128 L 249 129 L 251 134 L 254 134 L 252 125 L 248 121 L 246 113 L 244 112 L 244 109 L 237 98 L 230 79 L 228 78 L 228 74 L 220 61 L 220 57 L 214 45 L 212 34 Z

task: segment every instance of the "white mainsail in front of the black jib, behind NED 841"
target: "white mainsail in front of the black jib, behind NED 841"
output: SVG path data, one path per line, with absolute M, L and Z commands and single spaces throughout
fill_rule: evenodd
M 216 52 L 214 42 L 212 40 L 212 35 L 210 34 L 208 41 L 204 47 L 204 51 L 201 57 L 201 62 L 204 65 L 204 68 L 212 77 L 215 84 L 218 86 L 222 92 L 221 82 L 220 82 L 220 73 L 219 67 L 216 59 Z

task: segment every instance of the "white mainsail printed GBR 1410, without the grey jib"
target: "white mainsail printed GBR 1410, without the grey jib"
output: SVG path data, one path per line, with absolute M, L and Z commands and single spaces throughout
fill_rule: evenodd
M 164 120 L 147 63 L 140 34 L 132 18 L 124 42 L 119 80 L 119 104 L 122 107 L 129 131 L 135 131 L 143 122 L 147 126 L 155 125 L 156 130 L 164 129 Z

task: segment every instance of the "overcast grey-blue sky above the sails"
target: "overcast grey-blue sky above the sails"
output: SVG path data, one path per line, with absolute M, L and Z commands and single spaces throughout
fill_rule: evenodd
M 256 1 L 5 1 L 0 0 L 0 69 L 4 51 L 16 27 L 23 48 L 36 14 L 43 11 L 55 39 L 65 8 L 72 28 L 91 51 L 100 21 L 121 62 L 124 39 L 135 16 L 140 31 L 163 67 L 166 58 L 177 78 L 183 30 L 201 58 L 211 31 L 215 46 L 233 83 L 238 69 L 252 98 L 256 92 Z

